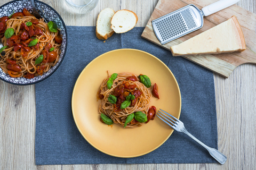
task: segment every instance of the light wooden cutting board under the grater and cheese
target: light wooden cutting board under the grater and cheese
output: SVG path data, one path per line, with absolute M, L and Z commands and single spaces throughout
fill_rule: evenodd
M 161 45 L 161 43 L 158 41 L 152 28 L 152 20 L 155 20 L 165 14 L 178 10 L 179 8 L 186 6 L 188 4 L 194 4 L 199 9 L 202 9 L 204 6 L 210 5 L 216 1 L 217 0 L 159 0 L 141 37 L 165 49 L 170 50 L 171 46 L 178 45 L 183 41 L 214 27 L 215 25 L 227 21 L 227 19 L 231 18 L 231 16 L 236 15 L 237 20 L 239 21 L 242 31 L 244 33 L 246 43 L 246 50 L 244 52 L 234 52 L 215 55 L 184 56 L 184 58 L 187 58 L 188 60 L 195 62 L 205 67 L 206 69 L 218 73 L 225 78 L 228 78 L 231 72 L 238 65 L 244 63 L 256 64 L 256 14 L 247 11 L 244 8 L 239 7 L 237 5 L 232 5 L 224 10 L 204 17 L 204 25 L 201 29 L 197 31 L 191 32 L 188 35 L 173 40 L 165 45 Z M 173 57 L 171 55 L 171 52 L 170 57 Z

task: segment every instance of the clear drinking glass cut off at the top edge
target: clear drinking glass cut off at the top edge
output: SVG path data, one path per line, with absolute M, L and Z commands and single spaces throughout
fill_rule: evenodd
M 90 12 L 98 4 L 99 0 L 65 0 L 72 11 L 84 14 Z

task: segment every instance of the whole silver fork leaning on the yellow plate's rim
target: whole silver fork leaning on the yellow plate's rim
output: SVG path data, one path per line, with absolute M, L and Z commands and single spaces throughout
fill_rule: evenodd
M 180 120 L 178 120 L 178 118 L 176 118 L 176 117 L 172 116 L 171 114 L 163 111 L 162 109 L 160 109 L 160 110 L 162 112 L 158 111 L 157 112 L 157 117 L 161 118 L 161 120 L 164 121 L 167 125 L 171 126 L 172 129 L 174 129 L 175 131 L 178 131 L 178 132 L 186 133 L 190 138 L 197 141 L 200 145 L 202 145 L 205 149 L 207 149 L 209 151 L 210 155 L 213 158 L 215 158 L 220 164 L 224 164 L 226 162 L 227 157 L 225 155 L 223 155 L 221 152 L 219 152 L 218 150 L 216 150 L 214 148 L 210 148 L 209 146 L 206 146 L 203 142 L 196 139 L 192 134 L 190 134 L 185 129 L 184 124 Z M 167 116 L 167 115 L 169 115 L 169 116 Z

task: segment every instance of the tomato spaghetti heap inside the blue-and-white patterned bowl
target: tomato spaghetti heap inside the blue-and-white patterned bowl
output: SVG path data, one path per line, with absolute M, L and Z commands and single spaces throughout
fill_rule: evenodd
M 3 45 L 7 46 L 4 49 L 5 55 L 0 54 L 0 67 L 3 72 L 11 77 L 34 78 L 49 71 L 59 61 L 62 41 L 59 30 L 51 32 L 43 19 L 37 20 L 32 14 L 16 15 L 5 22 L 5 27 L 5 31 L 13 28 L 14 34 L 11 38 L 6 38 L 2 32 Z M 25 37 L 27 35 L 28 37 Z M 56 38 L 59 38 L 58 43 Z M 38 39 L 37 44 L 29 46 L 29 43 L 35 39 Z M 41 55 L 43 61 L 36 64 L 37 58 Z

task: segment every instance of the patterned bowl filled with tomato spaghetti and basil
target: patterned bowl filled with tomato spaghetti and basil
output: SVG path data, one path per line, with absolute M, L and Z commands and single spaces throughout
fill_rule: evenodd
M 66 54 L 67 30 L 61 16 L 45 3 L 35 1 L 35 5 L 45 21 L 29 16 L 33 15 L 33 9 L 28 0 L 0 7 L 0 18 L 6 26 L 1 37 L 5 55 L 0 56 L 0 79 L 5 82 L 18 85 L 40 82 L 58 69 Z M 55 31 L 50 23 L 57 28 Z M 12 29 L 11 34 L 7 29 Z

